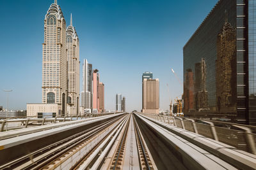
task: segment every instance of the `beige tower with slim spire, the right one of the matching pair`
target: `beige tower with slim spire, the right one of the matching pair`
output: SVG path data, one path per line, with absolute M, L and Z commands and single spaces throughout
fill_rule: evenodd
M 79 113 L 79 38 L 76 29 L 72 25 L 72 14 L 70 25 L 67 27 L 67 60 L 68 60 L 68 105 L 71 114 Z

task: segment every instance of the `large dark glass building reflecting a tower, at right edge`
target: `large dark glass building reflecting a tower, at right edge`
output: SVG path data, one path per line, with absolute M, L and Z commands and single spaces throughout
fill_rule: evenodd
M 204 58 L 208 112 L 239 124 L 256 125 L 255 18 L 255 0 L 220 0 L 183 48 L 184 80 Z

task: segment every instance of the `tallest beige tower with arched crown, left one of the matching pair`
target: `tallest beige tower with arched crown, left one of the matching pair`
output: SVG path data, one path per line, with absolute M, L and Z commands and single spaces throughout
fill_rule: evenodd
M 61 105 L 58 115 L 67 108 L 66 22 L 56 0 L 44 18 L 42 43 L 42 103 Z

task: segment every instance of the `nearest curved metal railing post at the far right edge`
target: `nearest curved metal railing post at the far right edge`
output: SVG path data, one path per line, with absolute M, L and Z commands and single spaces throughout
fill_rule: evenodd
M 233 126 L 243 129 L 245 131 L 244 137 L 246 139 L 246 145 L 248 146 L 249 152 L 256 155 L 256 146 L 255 146 L 255 140 L 253 138 L 252 130 L 248 127 L 244 127 L 241 125 L 233 125 Z

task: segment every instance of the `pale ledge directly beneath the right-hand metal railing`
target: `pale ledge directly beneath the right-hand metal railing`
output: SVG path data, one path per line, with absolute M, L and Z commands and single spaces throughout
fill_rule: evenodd
M 189 132 L 185 129 L 175 127 L 168 119 L 160 121 L 160 119 L 156 120 L 154 117 L 152 118 L 151 114 L 137 115 L 147 121 L 148 124 L 159 125 L 165 131 L 171 132 L 176 136 L 179 136 L 179 138 L 193 143 L 193 145 L 196 145 L 196 147 L 201 150 L 211 153 L 238 169 L 255 169 L 256 167 L 256 156 L 252 153 L 237 150 L 234 146 L 226 145 L 220 141 L 196 134 L 195 132 Z

